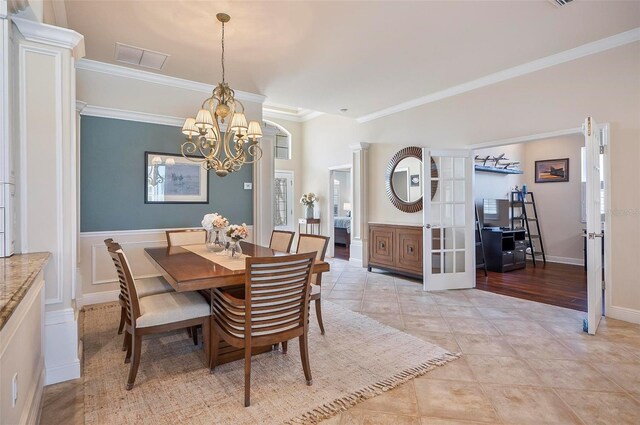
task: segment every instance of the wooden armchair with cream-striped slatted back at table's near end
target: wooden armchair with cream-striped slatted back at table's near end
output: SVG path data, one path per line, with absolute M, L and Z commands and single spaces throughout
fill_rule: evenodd
M 315 254 L 246 259 L 244 297 L 213 289 L 211 373 L 220 339 L 244 349 L 244 405 L 251 403 L 251 350 L 298 337 L 307 385 L 312 384 L 307 333 Z

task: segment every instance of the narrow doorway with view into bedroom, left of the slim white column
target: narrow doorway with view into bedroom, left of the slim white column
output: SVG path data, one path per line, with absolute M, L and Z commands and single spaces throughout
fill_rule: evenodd
M 351 165 L 329 170 L 329 256 L 349 260 L 351 256 L 351 214 L 353 183 Z

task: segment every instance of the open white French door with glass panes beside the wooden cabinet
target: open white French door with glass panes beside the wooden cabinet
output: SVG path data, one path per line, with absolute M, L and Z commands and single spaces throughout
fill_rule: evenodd
M 422 152 L 424 290 L 475 287 L 473 156 Z

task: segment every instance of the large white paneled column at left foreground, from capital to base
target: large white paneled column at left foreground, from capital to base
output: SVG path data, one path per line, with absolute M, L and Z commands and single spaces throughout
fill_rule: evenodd
M 18 42 L 21 251 L 52 253 L 45 275 L 46 384 L 80 376 L 74 288 L 78 176 L 75 59 L 82 35 L 13 18 Z

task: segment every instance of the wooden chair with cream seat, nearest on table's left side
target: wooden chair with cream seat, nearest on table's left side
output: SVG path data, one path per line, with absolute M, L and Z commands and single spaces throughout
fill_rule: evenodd
M 107 250 L 116 266 L 121 294 L 126 304 L 127 358 L 133 353 L 127 380 L 127 390 L 130 390 L 140 366 L 142 337 L 202 325 L 206 344 L 211 306 L 197 292 L 165 292 L 140 298 L 122 247 L 112 243 Z

